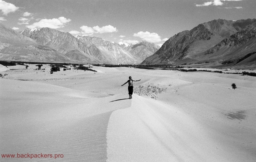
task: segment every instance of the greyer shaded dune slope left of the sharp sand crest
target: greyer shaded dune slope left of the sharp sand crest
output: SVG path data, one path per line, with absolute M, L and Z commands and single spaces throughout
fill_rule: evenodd
M 86 92 L 44 83 L 0 79 L 0 84 L 1 154 L 64 155 L 33 161 L 106 161 L 109 116 L 131 106 L 128 99 L 110 102 L 122 95 L 88 98 Z

